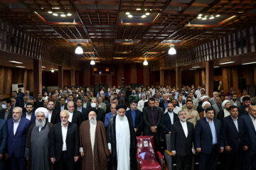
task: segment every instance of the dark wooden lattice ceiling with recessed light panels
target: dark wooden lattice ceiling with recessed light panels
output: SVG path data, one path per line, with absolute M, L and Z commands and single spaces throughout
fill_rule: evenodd
M 137 8 L 141 10 L 138 11 Z M 58 16 L 48 13 L 58 13 Z M 128 18 L 126 12 L 134 17 Z M 149 12 L 146 18 L 141 15 Z M 72 16 L 60 17 L 61 13 Z M 197 17 L 220 17 L 202 21 Z M 142 62 L 256 23 L 250 0 L 1 0 L 0 18 L 79 61 Z M 83 55 L 74 55 L 77 43 Z M 165 43 L 162 43 L 165 42 Z

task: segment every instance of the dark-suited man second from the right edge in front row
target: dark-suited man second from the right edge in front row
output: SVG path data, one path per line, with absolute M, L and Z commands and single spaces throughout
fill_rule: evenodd
M 245 145 L 244 120 L 238 118 L 238 107 L 230 106 L 230 115 L 223 118 L 225 169 L 242 169 L 242 147 Z

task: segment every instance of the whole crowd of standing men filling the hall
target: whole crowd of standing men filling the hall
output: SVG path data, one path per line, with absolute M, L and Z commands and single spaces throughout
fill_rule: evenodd
M 137 169 L 137 136 L 153 135 L 176 169 L 256 169 L 256 106 L 246 90 L 87 87 L 0 94 L 0 169 Z M 164 144 L 164 145 L 163 145 Z M 220 163 L 218 165 L 218 163 Z

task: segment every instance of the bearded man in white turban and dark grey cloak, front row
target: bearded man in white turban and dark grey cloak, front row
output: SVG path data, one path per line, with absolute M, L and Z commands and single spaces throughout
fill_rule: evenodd
M 46 108 L 37 108 L 35 115 L 36 123 L 30 126 L 26 140 L 25 157 L 28 159 L 28 169 L 52 169 L 49 157 L 49 133 L 53 124 L 46 121 L 46 118 L 48 118 Z

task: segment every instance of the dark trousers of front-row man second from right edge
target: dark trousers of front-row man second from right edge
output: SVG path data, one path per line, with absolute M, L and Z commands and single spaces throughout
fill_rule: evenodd
M 242 169 L 242 146 L 238 151 L 231 150 L 224 152 L 225 155 L 225 170 L 240 170 Z M 223 162 L 224 163 L 224 162 Z

